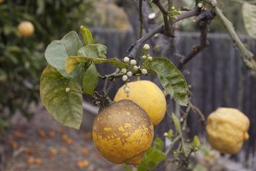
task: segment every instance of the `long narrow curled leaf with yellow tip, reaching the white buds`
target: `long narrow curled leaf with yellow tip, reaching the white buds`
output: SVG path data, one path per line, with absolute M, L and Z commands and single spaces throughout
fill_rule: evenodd
M 88 61 L 93 61 L 93 63 L 95 64 L 109 63 L 112 66 L 119 68 L 120 70 L 122 70 L 122 68 L 128 68 L 128 64 L 123 63 L 117 58 L 101 59 L 101 58 L 86 57 L 86 56 L 70 56 L 68 57 L 66 62 L 67 73 L 70 73 L 72 70 L 74 70 L 77 64 L 87 63 Z

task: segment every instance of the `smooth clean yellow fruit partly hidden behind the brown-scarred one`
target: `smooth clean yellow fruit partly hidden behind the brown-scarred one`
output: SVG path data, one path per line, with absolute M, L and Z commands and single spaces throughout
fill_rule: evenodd
M 129 82 L 130 93 L 124 93 L 124 86 L 118 89 L 114 101 L 132 100 L 146 110 L 154 126 L 159 124 L 166 112 L 166 100 L 163 92 L 154 82 L 140 80 Z

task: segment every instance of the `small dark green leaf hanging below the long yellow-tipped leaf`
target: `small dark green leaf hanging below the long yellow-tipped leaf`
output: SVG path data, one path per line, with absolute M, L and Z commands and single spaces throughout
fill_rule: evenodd
M 83 89 L 87 94 L 93 95 L 99 82 L 99 75 L 94 63 L 86 70 L 83 77 Z

